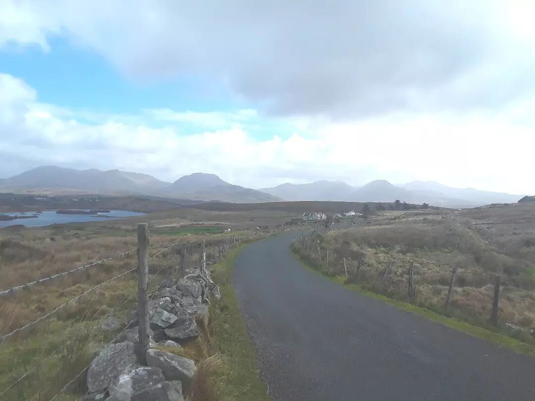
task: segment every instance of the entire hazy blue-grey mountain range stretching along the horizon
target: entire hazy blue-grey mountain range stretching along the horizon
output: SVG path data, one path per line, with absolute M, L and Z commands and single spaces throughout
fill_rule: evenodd
M 102 195 L 152 195 L 195 201 L 259 203 L 277 201 L 342 201 L 429 203 L 444 207 L 474 207 L 490 203 L 517 202 L 522 195 L 452 188 L 433 181 L 413 181 L 394 185 L 388 181 L 371 181 L 354 187 L 341 181 L 316 181 L 307 184 L 281 184 L 273 188 L 251 189 L 230 184 L 215 174 L 194 173 L 174 182 L 161 181 L 148 174 L 101 171 L 95 168 L 76 170 L 42 166 L 11 178 L 0 179 L 3 192 L 63 192 Z

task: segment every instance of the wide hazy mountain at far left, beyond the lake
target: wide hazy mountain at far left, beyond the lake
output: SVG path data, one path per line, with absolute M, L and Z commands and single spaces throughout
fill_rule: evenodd
M 169 182 L 160 181 L 148 174 L 131 173 L 117 169 L 101 171 L 95 168 L 75 170 L 56 166 L 33 168 L 19 175 L 0 181 L 5 189 L 77 189 L 101 194 L 149 194 L 158 191 Z

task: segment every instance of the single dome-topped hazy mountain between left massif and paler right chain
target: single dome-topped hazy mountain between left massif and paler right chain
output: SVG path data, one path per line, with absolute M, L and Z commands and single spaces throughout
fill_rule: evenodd
M 162 193 L 178 198 L 200 201 L 238 203 L 277 202 L 280 198 L 255 189 L 243 188 L 221 180 L 215 174 L 185 175 L 166 187 Z

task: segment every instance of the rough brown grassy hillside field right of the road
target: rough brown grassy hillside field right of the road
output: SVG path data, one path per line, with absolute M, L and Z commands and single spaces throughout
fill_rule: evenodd
M 407 299 L 408 268 L 413 263 L 414 304 L 492 330 L 488 318 L 494 276 L 500 275 L 500 330 L 532 344 L 534 216 L 535 206 L 529 204 L 462 211 L 384 212 L 373 215 L 361 227 L 316 234 L 311 240 L 314 246 L 297 243 L 294 249 L 329 276 L 345 274 L 345 257 L 348 281 L 398 300 Z M 458 273 L 446 310 L 454 266 Z M 505 323 L 524 330 L 510 329 Z

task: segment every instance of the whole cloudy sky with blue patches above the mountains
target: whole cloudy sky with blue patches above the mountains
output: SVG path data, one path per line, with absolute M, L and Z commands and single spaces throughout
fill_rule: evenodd
M 0 178 L 535 194 L 531 0 L 0 0 Z

